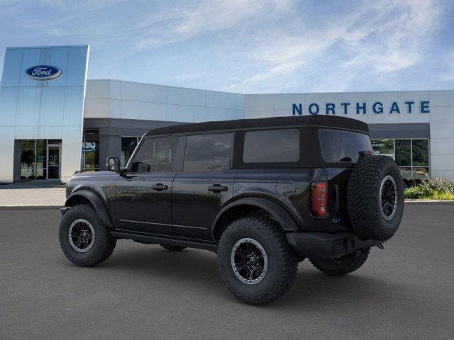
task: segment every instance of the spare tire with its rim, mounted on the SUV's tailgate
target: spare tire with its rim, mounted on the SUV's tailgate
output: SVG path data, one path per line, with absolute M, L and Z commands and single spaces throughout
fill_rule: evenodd
M 404 184 L 394 159 L 361 156 L 347 188 L 348 217 L 360 239 L 386 241 L 404 213 Z

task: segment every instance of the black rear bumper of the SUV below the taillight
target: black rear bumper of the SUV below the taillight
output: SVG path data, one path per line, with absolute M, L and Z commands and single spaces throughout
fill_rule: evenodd
M 352 254 L 367 246 L 384 243 L 378 240 L 363 241 L 353 232 L 287 232 L 287 241 L 300 256 L 309 259 L 336 259 Z

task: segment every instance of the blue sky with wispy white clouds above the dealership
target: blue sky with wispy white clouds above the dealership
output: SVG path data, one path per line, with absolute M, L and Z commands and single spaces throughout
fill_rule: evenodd
M 89 79 L 240 93 L 454 89 L 454 1 L 0 0 L 7 46 L 89 44 Z

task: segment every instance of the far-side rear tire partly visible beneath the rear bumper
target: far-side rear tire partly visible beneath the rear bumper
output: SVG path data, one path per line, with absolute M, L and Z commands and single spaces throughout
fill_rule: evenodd
M 342 276 L 356 271 L 369 256 L 370 248 L 359 250 L 356 254 L 348 254 L 339 259 L 313 260 L 309 259 L 315 268 L 329 276 Z

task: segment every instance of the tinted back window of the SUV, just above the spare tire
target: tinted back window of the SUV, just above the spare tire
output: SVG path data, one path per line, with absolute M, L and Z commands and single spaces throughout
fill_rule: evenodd
M 328 163 L 356 162 L 360 151 L 372 151 L 369 135 L 342 130 L 319 130 L 321 155 Z

